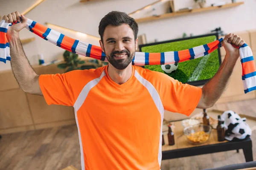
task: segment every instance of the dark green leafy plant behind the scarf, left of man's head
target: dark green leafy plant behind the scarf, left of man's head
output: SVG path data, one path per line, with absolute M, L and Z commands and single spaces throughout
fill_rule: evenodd
M 96 61 L 97 59 L 92 59 L 89 62 L 93 62 L 91 65 L 81 65 L 84 64 L 85 61 L 78 58 L 78 54 L 72 53 L 70 51 L 65 51 L 63 54 L 64 63 L 58 64 L 58 68 L 66 69 L 65 73 L 72 71 L 72 70 L 85 70 L 96 68 L 99 62 Z M 94 64 L 95 63 L 95 64 Z

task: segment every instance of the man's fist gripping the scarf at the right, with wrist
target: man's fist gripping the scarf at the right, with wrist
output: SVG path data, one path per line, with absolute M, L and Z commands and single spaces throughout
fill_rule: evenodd
M 232 57 L 233 59 L 238 59 L 239 57 L 239 49 L 233 47 L 232 45 L 236 45 L 240 47 L 245 42 L 241 39 L 241 37 L 238 37 L 238 35 L 235 35 L 233 33 L 227 34 L 222 42 L 222 45 L 224 46 L 226 50 L 226 55 L 228 57 Z

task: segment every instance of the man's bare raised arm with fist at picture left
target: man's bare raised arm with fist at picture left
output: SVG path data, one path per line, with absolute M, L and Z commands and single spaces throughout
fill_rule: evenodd
M 43 95 L 40 85 L 39 76 L 35 73 L 25 55 L 20 42 L 19 32 L 26 27 L 27 18 L 21 15 L 22 23 L 10 26 L 7 30 L 7 39 L 10 45 L 10 56 L 12 71 L 20 88 L 29 94 Z M 3 16 L 6 23 L 20 22 L 20 14 L 16 11 L 7 16 Z

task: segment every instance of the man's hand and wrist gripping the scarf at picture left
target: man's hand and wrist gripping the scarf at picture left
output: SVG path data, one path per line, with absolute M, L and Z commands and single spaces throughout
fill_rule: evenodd
M 6 21 L 6 23 L 15 23 L 16 21 L 17 22 L 20 22 L 20 17 L 21 17 L 21 20 L 22 22 L 21 23 L 17 23 L 17 24 L 14 24 L 12 26 L 10 26 L 7 30 L 7 34 L 6 34 L 6 37 L 9 41 L 10 38 L 12 37 L 17 37 L 19 36 L 19 32 L 20 30 L 22 30 L 23 28 L 26 27 L 26 23 L 27 23 L 27 18 L 24 17 L 24 15 L 20 15 L 19 12 L 12 12 L 12 14 L 8 14 L 8 15 L 5 15 L 3 16 L 3 20 Z

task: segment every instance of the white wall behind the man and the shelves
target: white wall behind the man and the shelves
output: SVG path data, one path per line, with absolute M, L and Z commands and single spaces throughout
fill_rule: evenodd
M 81 31 L 99 37 L 99 22 L 110 11 L 124 11 L 131 13 L 143 6 L 146 6 L 156 0 L 96 0 L 87 3 L 80 3 L 79 0 L 45 0 L 38 7 L 34 8 L 26 17 L 35 20 L 38 23 L 54 23 L 59 26 Z M 230 3 L 231 0 L 207 0 L 207 6 L 213 2 L 225 1 Z M 237 0 L 242 1 L 242 0 Z M 12 11 L 22 13 L 36 0 L 0 0 L 0 15 L 3 17 Z M 175 0 L 175 8 L 192 6 L 198 8 L 193 0 Z M 153 22 L 139 23 L 139 34 L 146 34 L 148 42 L 155 39 L 158 41 L 179 38 L 183 32 L 188 35 L 209 33 L 217 27 L 221 27 L 224 32 L 239 32 L 244 30 L 256 29 L 256 0 L 245 0 L 244 5 L 227 8 L 216 11 L 209 11 L 198 14 L 185 15 Z M 156 4 L 158 14 L 166 10 L 166 2 L 163 5 Z M 134 18 L 140 15 L 151 15 L 151 9 L 143 11 L 141 14 L 134 14 Z M 53 28 L 63 34 L 78 40 L 83 40 L 94 45 L 99 45 L 98 40 L 88 37 L 79 37 L 74 33 Z M 31 64 L 38 64 L 36 54 L 44 54 L 45 62 L 53 59 L 61 59 L 63 49 L 46 42 L 30 31 L 24 29 L 20 32 L 20 38 L 36 37 L 34 42 L 24 45 L 26 55 Z M 0 70 L 10 69 L 10 63 L 0 62 Z

